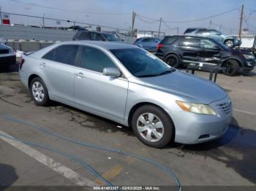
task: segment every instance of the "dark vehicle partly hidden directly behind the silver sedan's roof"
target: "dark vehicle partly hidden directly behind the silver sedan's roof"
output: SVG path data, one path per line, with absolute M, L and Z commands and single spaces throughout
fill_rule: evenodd
M 111 33 L 100 33 L 95 31 L 77 31 L 72 40 L 96 40 L 96 41 L 110 41 L 122 42 L 120 37 Z

